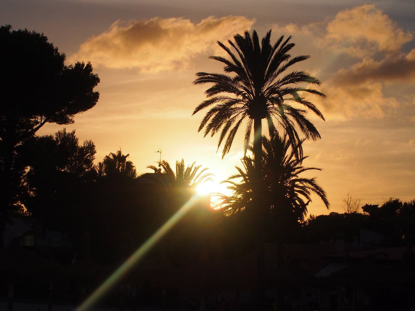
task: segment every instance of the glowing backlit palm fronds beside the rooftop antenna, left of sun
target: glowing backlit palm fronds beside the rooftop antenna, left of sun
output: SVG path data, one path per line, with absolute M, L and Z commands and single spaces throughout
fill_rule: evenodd
M 196 162 L 193 162 L 186 167 L 184 164 L 184 159 L 182 159 L 180 162 L 176 161 L 176 173 L 173 172 L 173 169 L 167 161 L 162 160 L 160 165 L 163 169 L 162 173 L 169 174 L 171 180 L 178 187 L 193 186 L 213 180 L 212 176 L 214 176 L 214 174 L 205 173 L 207 170 L 209 170 L 208 168 L 203 168 L 200 170 L 202 165 L 195 166 L 195 163 Z M 147 168 L 154 170 L 154 173 L 159 173 L 159 169 L 154 165 L 149 165 Z

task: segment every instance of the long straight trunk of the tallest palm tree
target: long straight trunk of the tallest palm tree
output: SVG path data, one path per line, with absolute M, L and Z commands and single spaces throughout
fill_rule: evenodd
M 254 164 L 255 179 L 253 185 L 254 208 L 257 213 L 257 248 L 256 248 L 256 274 L 258 309 L 264 309 L 265 287 L 265 202 L 262 187 L 262 119 L 254 119 Z

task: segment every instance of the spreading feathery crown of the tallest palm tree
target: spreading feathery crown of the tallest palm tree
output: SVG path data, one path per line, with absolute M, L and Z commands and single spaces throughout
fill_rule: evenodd
M 288 52 L 295 46 L 294 43 L 289 43 L 291 36 L 285 41 L 283 41 L 284 36 L 281 36 L 273 46 L 270 38 L 271 30 L 264 36 L 260 46 L 255 30 L 252 36 L 247 31 L 244 36 L 235 34 L 235 42 L 231 40 L 228 42 L 239 57 L 227 46 L 217 41 L 217 44 L 229 54 L 232 60 L 222 56 L 210 56 L 210 58 L 224 63 L 225 73 L 234 75 L 196 73 L 197 78 L 193 84 L 213 83 L 213 86 L 205 91 L 207 100 L 193 111 L 195 114 L 213 106 L 200 122 L 198 131 L 205 128 L 204 136 L 207 134 L 213 136 L 220 131 L 218 149 L 226 137 L 222 158 L 229 152 L 235 134 L 244 120 L 247 120 L 244 148 L 245 150 L 248 148 L 252 125 L 254 125 L 256 155 L 261 155 L 262 119 L 267 120 L 270 135 L 275 133 L 274 121 L 276 121 L 277 127 L 282 128 L 288 134 L 294 148 L 300 141 L 295 126 L 298 126 L 307 139 L 321 138 L 315 126 L 305 115 L 311 110 L 322 120 L 325 119 L 320 110 L 300 94 L 306 92 L 320 97 L 325 97 L 325 95 L 308 87 L 295 86 L 298 84 L 320 85 L 320 81 L 304 71 L 293 71 L 282 76 L 288 67 L 305 61 L 310 56 L 291 57 Z M 305 109 L 295 108 L 291 103 L 300 104 Z M 302 149 L 299 148 L 299 151 L 301 153 Z M 256 165 L 258 168 L 261 167 L 259 162 Z

